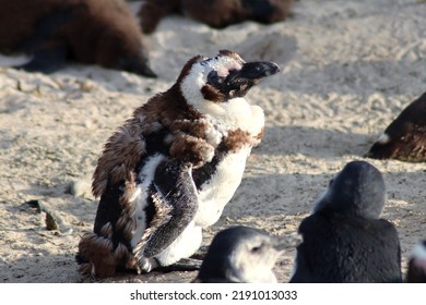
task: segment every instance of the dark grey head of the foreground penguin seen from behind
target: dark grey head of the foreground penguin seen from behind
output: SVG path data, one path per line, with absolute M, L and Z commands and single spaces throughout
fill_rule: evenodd
M 383 209 L 386 187 L 381 173 L 366 161 L 348 162 L 330 181 L 313 212 L 339 212 L 377 219 Z

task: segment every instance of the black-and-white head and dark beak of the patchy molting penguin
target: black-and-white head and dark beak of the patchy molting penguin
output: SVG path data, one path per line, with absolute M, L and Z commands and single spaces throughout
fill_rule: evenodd
M 245 62 L 228 50 L 221 50 L 212 58 L 192 58 L 178 77 L 180 89 L 189 103 L 226 103 L 244 97 L 261 78 L 280 72 L 270 61 Z

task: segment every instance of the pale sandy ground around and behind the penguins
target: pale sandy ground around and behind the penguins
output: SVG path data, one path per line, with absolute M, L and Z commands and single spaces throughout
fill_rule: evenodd
M 329 180 L 346 162 L 363 159 L 390 121 L 425 91 L 424 2 L 300 0 L 286 22 L 223 30 L 170 16 L 146 37 L 157 80 L 76 64 L 51 75 L 1 68 L 0 280 L 87 281 L 76 272 L 74 255 L 80 235 L 93 225 L 97 202 L 88 190 L 104 143 L 135 107 L 167 89 L 189 58 L 220 49 L 247 61 L 275 61 L 282 71 L 247 97 L 264 109 L 265 135 L 222 218 L 205 230 L 204 244 L 232 224 L 277 235 L 296 231 Z M 0 65 L 11 60 L 2 57 Z M 368 161 L 384 175 L 382 217 L 398 228 L 405 269 L 411 248 L 426 237 L 426 167 Z M 47 213 L 28 200 L 42 203 L 58 230 L 47 230 Z M 275 268 L 281 282 L 288 280 L 294 254 L 288 251 Z M 104 281 L 193 277 L 153 272 Z

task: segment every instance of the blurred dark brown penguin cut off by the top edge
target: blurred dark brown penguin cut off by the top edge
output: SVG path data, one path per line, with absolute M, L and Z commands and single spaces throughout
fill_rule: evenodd
M 138 15 L 142 30 L 150 34 L 163 17 L 174 13 L 223 28 L 245 21 L 284 21 L 292 4 L 293 0 L 145 0 Z

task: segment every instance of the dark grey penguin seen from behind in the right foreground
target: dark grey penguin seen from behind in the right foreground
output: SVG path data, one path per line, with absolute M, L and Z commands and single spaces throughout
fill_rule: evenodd
M 384 198 L 383 178 L 375 167 L 347 163 L 300 223 L 304 241 L 291 282 L 401 282 L 398 232 L 379 218 Z

